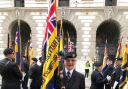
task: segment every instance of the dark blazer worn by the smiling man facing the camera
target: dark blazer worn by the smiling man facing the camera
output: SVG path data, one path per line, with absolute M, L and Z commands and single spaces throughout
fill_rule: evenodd
M 85 89 L 85 77 L 74 70 L 70 80 L 67 81 L 65 70 L 63 70 L 63 78 L 57 84 L 59 85 L 56 89 L 61 89 L 62 86 L 65 86 L 65 89 Z

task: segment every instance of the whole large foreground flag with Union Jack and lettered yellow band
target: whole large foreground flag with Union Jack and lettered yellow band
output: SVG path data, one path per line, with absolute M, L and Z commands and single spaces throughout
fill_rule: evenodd
M 57 68 L 59 65 L 59 61 L 57 60 L 59 43 L 57 37 L 55 1 L 56 0 L 49 0 L 48 16 L 46 19 L 47 26 L 42 45 L 42 56 L 45 58 L 42 89 L 56 89 Z

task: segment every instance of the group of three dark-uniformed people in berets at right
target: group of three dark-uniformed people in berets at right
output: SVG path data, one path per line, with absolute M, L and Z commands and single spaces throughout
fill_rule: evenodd
M 95 62 L 95 70 L 91 74 L 90 89 L 122 89 L 119 88 L 119 81 L 122 76 L 122 58 L 113 61 L 104 57 L 104 63 Z

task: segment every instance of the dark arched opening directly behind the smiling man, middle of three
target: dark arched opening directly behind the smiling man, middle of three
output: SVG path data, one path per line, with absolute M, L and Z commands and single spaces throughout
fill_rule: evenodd
M 57 22 L 57 27 L 58 29 L 61 26 L 61 20 L 59 20 Z M 73 23 L 71 23 L 70 21 L 63 19 L 62 20 L 62 29 L 63 29 L 63 33 L 64 33 L 64 52 L 65 53 L 69 53 L 68 51 L 68 46 L 69 46 L 69 41 L 72 43 L 72 51 L 71 53 L 76 53 L 76 43 L 77 43 L 77 32 L 76 32 L 76 28 L 73 25 Z

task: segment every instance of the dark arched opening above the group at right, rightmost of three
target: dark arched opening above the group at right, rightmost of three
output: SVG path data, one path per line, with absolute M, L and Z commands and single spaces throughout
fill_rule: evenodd
M 97 28 L 96 32 L 96 59 L 103 60 L 104 47 L 107 40 L 108 56 L 114 59 L 120 39 L 120 24 L 113 20 L 108 19 L 103 21 Z

